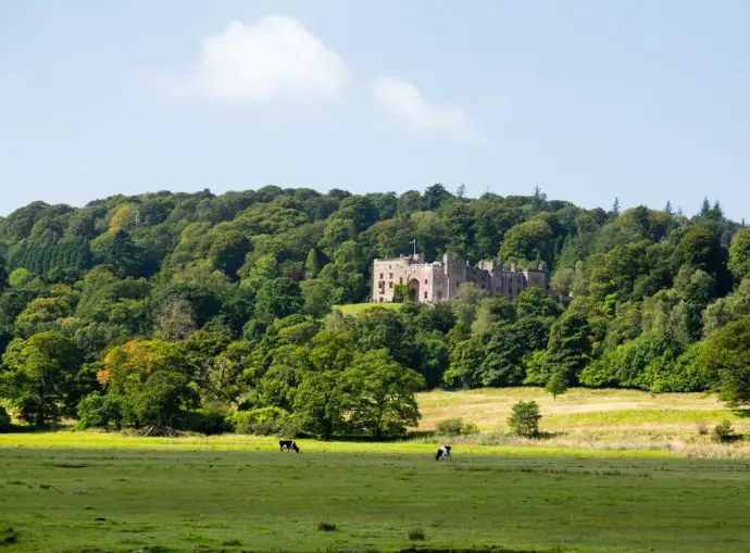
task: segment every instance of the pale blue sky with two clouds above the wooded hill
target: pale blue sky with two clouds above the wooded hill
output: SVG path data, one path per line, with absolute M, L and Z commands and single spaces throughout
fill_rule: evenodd
M 0 215 L 465 185 L 750 219 L 750 2 L 0 2 Z

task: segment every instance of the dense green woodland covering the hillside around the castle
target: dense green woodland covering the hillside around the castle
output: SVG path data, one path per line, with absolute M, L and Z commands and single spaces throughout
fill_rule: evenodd
M 553 293 L 335 309 L 412 239 L 428 260 L 543 261 Z M 34 425 L 379 438 L 434 387 L 750 394 L 750 229 L 708 200 L 690 217 L 440 185 L 38 202 L 0 219 L 0 405 Z

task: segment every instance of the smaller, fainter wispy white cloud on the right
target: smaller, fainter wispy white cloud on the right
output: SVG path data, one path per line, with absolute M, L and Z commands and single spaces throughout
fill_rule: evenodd
M 429 102 L 407 80 L 379 77 L 373 83 L 372 92 L 391 121 L 407 130 L 463 140 L 476 137 L 474 124 L 465 111 L 458 105 Z

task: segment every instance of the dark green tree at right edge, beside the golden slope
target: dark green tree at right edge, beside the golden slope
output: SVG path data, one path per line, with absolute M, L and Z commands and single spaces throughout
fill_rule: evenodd
M 705 340 L 700 361 L 718 397 L 732 406 L 750 403 L 750 316 L 729 323 Z

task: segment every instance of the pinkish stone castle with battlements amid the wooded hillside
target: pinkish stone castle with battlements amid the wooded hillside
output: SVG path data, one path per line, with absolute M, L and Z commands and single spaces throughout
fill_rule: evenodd
M 411 301 L 436 303 L 451 301 L 465 282 L 474 282 L 490 296 L 515 298 L 529 286 L 546 289 L 545 271 L 541 264 L 537 269 L 517 271 L 515 263 L 505 271 L 496 261 L 483 261 L 471 265 L 467 261 L 442 255 L 442 261 L 426 263 L 424 254 L 401 255 L 392 260 L 373 262 L 372 301 L 391 302 L 397 285 L 409 287 Z

